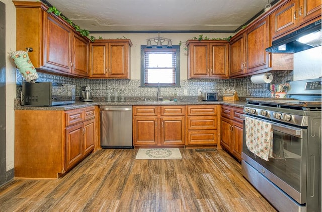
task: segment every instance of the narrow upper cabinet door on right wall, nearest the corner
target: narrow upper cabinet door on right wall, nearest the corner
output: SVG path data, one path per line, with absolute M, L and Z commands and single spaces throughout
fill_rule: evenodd
M 244 44 L 243 36 L 239 36 L 230 43 L 229 77 L 244 74 Z

